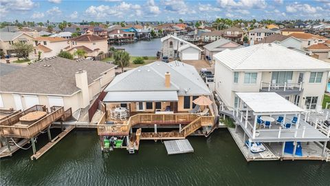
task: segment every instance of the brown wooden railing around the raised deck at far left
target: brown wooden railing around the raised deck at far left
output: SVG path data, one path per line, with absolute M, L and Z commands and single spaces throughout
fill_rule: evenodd
M 36 110 L 39 110 L 41 108 L 44 111 L 47 111 L 45 106 L 44 107 L 39 107 L 39 106 L 43 106 L 43 105 L 36 105 L 34 107 L 36 108 Z M 47 113 L 45 117 L 39 119 L 39 121 L 36 121 L 26 127 L 14 126 L 15 123 L 19 122 L 19 118 L 21 116 L 28 114 L 27 112 L 33 112 L 33 107 L 18 114 L 15 114 L 14 116 L 8 118 L 5 121 L 1 121 L 0 136 L 15 137 L 15 138 L 32 138 L 33 136 L 36 136 L 36 134 L 38 134 L 39 132 L 45 130 L 45 128 L 50 126 L 54 121 L 57 121 L 58 119 L 63 117 L 64 108 L 54 107 L 54 110 L 51 113 Z

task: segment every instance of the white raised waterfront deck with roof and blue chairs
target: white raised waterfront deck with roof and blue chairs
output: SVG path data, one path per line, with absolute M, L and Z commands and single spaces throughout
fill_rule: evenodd
M 290 142 L 293 144 L 291 156 L 294 157 L 297 144 L 317 142 L 322 146 L 317 150 L 320 152 L 319 157 L 326 156 L 330 130 L 322 123 L 307 123 L 302 108 L 274 92 L 237 92 L 236 96 L 239 102 L 233 111 L 236 121 L 234 133 L 239 133 L 240 126 L 243 132 L 240 136 L 249 147 L 248 152 L 253 143 L 267 143 L 266 148 L 274 146 L 273 144 L 277 144 L 277 147 L 281 143 L 281 148 L 272 149 L 272 152 L 283 158 L 285 142 Z

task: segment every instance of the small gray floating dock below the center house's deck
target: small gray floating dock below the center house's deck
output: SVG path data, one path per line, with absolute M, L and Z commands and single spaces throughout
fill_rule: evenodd
M 194 152 L 194 149 L 192 149 L 188 139 L 164 141 L 164 145 L 168 155 Z

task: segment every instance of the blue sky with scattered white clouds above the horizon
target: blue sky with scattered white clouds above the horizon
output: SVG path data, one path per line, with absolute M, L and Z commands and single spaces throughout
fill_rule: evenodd
M 0 21 L 330 19 L 330 0 L 0 0 Z

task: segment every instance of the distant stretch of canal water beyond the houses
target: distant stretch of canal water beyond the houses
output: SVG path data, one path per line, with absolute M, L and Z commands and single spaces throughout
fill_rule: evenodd
M 131 56 L 156 56 L 160 51 L 162 42 L 160 38 L 150 41 L 137 41 L 135 43 L 125 43 L 122 45 L 112 45 L 114 48 L 124 48 Z

